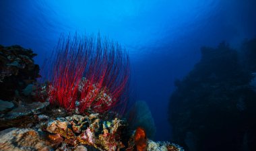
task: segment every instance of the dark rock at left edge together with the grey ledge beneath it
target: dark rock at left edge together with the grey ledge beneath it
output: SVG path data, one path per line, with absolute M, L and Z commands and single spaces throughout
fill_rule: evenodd
M 29 128 L 38 121 L 34 115 L 49 105 L 32 100 L 34 83 L 39 77 L 34 56 L 32 50 L 18 45 L 0 45 L 0 130 Z

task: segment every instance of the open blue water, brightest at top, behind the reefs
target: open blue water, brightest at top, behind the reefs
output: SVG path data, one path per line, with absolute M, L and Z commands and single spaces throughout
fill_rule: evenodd
M 98 33 L 129 51 L 136 99 L 146 101 L 156 140 L 170 140 L 167 107 L 174 79 L 199 61 L 201 46 L 236 48 L 256 36 L 254 0 L 0 1 L 0 44 L 51 54 L 61 33 Z

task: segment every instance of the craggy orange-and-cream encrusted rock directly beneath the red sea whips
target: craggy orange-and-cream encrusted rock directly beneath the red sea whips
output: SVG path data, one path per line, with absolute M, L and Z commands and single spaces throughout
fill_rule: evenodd
M 50 121 L 46 131 L 62 136 L 69 146 L 89 145 L 99 150 L 115 151 L 125 147 L 121 142 L 124 126 L 125 122 L 117 118 L 102 122 L 98 114 L 73 115 Z

